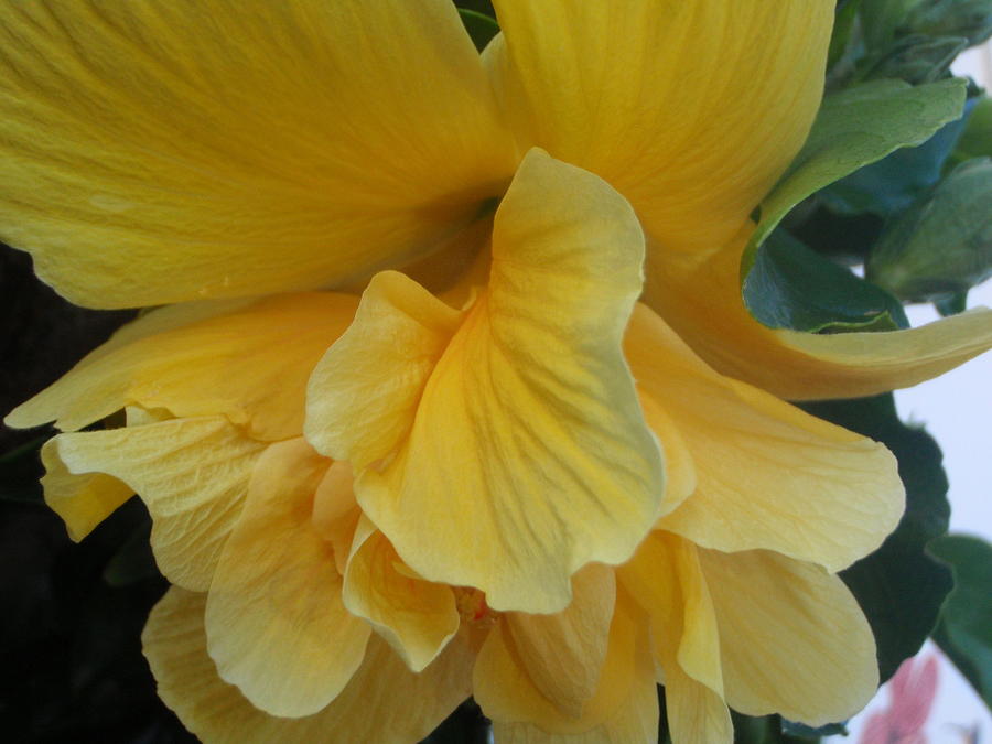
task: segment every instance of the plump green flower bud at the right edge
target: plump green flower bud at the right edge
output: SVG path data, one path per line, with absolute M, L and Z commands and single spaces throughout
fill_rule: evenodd
M 967 292 L 992 277 L 992 160 L 968 161 L 892 220 L 869 279 L 908 301 Z

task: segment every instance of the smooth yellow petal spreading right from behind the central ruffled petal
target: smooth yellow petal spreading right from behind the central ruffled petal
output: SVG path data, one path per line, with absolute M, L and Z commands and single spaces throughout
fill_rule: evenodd
M 679 427 L 696 492 L 659 526 L 725 551 L 765 548 L 840 570 L 877 548 L 904 506 L 882 444 L 713 371 L 638 305 L 626 341 L 641 395 Z

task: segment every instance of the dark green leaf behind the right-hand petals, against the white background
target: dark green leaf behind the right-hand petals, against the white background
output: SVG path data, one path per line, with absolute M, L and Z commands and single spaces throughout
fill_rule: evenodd
M 926 553 L 927 543 L 947 531 L 950 514 L 940 449 L 925 431 L 899 421 L 892 395 L 802 408 L 882 442 L 899 463 L 906 486 L 903 519 L 878 550 L 841 573 L 872 626 L 885 681 L 919 650 L 952 587 L 947 567 Z

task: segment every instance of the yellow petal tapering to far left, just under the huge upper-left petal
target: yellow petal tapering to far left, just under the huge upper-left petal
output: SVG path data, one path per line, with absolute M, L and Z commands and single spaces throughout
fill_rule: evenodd
M 176 417 L 224 414 L 257 439 L 299 436 L 306 379 L 357 300 L 287 294 L 164 308 L 121 328 L 7 417 L 80 429 L 126 406 Z

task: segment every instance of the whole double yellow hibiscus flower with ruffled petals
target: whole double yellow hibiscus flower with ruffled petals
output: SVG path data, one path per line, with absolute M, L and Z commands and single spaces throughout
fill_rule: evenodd
M 74 537 L 148 504 L 148 655 L 207 740 L 412 742 L 473 693 L 500 741 L 653 741 L 656 665 L 679 742 L 730 741 L 724 700 L 842 718 L 876 672 L 833 573 L 894 461 L 720 371 L 866 395 L 989 315 L 746 314 L 832 2 L 496 6 L 482 57 L 442 0 L 0 10 L 0 236 L 82 304 L 181 303 L 8 421 L 69 432 Z

